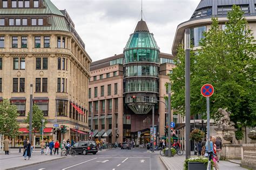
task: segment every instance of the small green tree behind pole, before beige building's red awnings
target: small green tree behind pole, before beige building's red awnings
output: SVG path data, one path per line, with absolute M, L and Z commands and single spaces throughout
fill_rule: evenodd
M 30 115 L 30 112 L 28 112 L 28 116 L 25 118 L 25 123 L 27 124 L 29 124 L 29 115 Z M 37 131 L 40 130 L 40 128 L 42 128 L 42 119 L 45 119 L 45 122 L 44 122 L 44 128 L 45 128 L 45 125 L 47 124 L 47 119 L 44 118 L 44 113 L 38 107 L 38 105 L 33 104 L 32 131 L 34 135 Z M 27 126 L 27 128 L 29 129 L 29 126 Z

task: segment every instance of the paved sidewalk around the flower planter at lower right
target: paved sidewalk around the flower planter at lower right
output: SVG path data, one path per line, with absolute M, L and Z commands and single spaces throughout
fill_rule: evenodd
M 183 164 L 186 156 L 183 154 L 181 156 L 174 155 L 174 157 L 161 157 L 160 160 L 164 163 L 166 168 L 169 170 L 181 170 L 183 169 Z M 245 168 L 240 167 L 238 164 L 234 164 L 230 161 L 220 161 L 219 163 L 220 169 L 232 169 L 232 170 L 244 170 Z

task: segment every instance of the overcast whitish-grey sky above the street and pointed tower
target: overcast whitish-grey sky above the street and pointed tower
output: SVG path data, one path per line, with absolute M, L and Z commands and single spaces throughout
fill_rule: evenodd
M 66 9 L 93 61 L 123 53 L 140 20 L 141 0 L 51 0 Z M 143 0 L 143 20 L 160 52 L 171 53 L 178 24 L 190 19 L 200 0 Z

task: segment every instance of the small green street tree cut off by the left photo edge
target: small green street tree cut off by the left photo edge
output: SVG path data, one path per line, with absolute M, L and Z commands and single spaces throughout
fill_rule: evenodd
M 17 107 L 11 104 L 8 99 L 0 102 L 0 132 L 15 138 L 19 135 L 19 123 L 17 117 L 19 116 Z

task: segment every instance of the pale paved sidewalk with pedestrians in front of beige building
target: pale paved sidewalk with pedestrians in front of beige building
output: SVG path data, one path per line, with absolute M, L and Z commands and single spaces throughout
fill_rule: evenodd
M 59 155 L 41 155 L 40 150 L 33 150 L 31 158 L 28 160 L 24 160 L 22 157 L 23 153 L 18 153 L 18 149 L 11 149 L 11 153 L 9 155 L 5 155 L 4 153 L 0 153 L 0 164 L 2 169 L 12 169 L 17 167 L 25 167 L 29 165 L 41 164 L 42 162 L 52 161 L 56 159 L 63 159 L 66 157 L 60 157 Z

